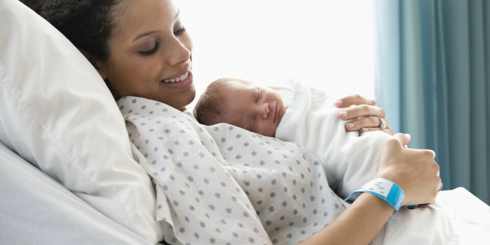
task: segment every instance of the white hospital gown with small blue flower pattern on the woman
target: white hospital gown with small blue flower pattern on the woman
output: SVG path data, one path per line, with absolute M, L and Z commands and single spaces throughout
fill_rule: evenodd
M 118 102 L 170 244 L 296 244 L 348 206 L 299 145 L 140 97 Z

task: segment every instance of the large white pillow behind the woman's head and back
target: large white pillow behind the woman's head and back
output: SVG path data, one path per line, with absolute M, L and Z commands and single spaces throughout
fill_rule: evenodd
M 0 140 L 116 222 L 156 242 L 155 193 L 97 71 L 18 0 L 0 1 Z

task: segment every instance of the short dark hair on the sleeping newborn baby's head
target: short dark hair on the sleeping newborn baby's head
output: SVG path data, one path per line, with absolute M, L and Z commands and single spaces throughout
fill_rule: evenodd
M 230 83 L 252 84 L 237 78 L 220 78 L 208 85 L 194 107 L 194 117 L 200 124 L 215 125 L 222 121 L 226 106 L 226 91 Z

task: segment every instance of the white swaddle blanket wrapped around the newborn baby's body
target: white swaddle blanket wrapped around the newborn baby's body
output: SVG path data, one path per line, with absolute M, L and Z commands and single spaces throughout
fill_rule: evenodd
M 350 132 L 346 121 L 338 117 L 336 108 L 324 91 L 293 80 L 284 89 L 292 91 L 291 101 L 276 130 L 276 137 L 295 142 L 320 159 L 330 187 L 340 197 L 372 180 L 384 142 L 391 137 L 384 132 Z

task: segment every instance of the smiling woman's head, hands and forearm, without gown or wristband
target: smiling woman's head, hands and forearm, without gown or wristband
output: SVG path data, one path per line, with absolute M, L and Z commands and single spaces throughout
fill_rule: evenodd
M 183 111 L 194 99 L 192 43 L 170 0 L 36 2 L 32 8 L 80 49 L 116 100 L 132 95 Z M 346 109 L 341 118 L 361 119 L 348 130 L 381 130 L 375 116 L 384 119 L 384 111 L 373 101 L 348 96 L 337 104 L 350 105 L 361 106 Z M 393 134 L 389 127 L 385 131 Z M 386 142 L 376 177 L 394 181 L 404 190 L 403 205 L 432 203 L 440 187 L 434 153 L 404 149 L 409 140 L 397 134 Z M 384 200 L 362 193 L 303 243 L 369 243 L 394 211 Z

